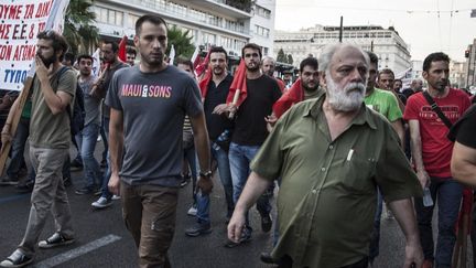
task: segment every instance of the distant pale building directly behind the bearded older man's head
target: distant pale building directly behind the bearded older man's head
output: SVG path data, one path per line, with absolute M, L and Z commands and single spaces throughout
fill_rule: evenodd
M 282 49 L 285 54 L 292 55 L 295 66 L 309 54 L 318 56 L 324 46 L 339 42 L 338 26 L 315 25 L 294 32 L 275 31 L 274 34 L 274 54 Z M 400 73 L 411 66 L 408 45 L 393 28 L 344 26 L 343 42 L 374 51 L 379 57 L 379 69 L 391 68 Z

